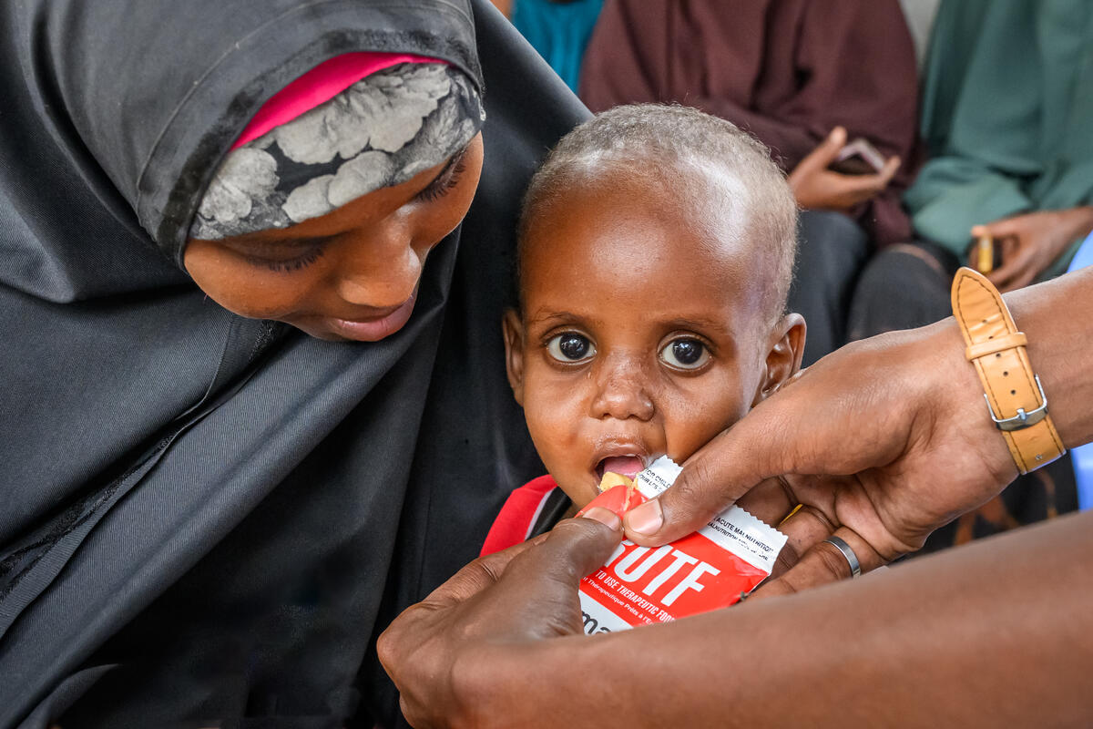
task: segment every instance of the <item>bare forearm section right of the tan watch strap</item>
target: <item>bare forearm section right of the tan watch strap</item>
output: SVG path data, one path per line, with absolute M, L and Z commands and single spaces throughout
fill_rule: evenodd
M 1093 440 L 1093 268 L 1006 295 L 1068 448 Z

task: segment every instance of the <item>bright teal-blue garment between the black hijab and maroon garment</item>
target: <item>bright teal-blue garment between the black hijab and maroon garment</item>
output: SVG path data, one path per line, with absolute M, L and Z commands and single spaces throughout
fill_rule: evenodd
M 603 0 L 514 0 L 513 25 L 577 93 L 580 61 Z

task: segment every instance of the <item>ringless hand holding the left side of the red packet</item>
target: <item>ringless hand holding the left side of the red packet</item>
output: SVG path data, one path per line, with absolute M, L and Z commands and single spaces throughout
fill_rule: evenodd
M 541 638 L 585 638 L 577 585 L 622 540 L 611 512 L 593 508 L 585 517 L 475 560 L 384 631 L 376 649 L 411 725 L 510 726 L 518 695 L 512 710 L 498 709 L 492 696 L 490 715 L 475 716 L 484 705 L 475 694 L 491 684 L 481 674 L 496 667 L 491 647 L 504 645 L 512 656 L 520 652 L 514 646 Z

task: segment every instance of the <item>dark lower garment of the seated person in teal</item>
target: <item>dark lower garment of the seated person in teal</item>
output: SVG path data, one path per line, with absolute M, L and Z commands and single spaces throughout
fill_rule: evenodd
M 950 287 L 959 266 L 951 251 L 930 243 L 901 244 L 879 252 L 861 273 L 854 294 L 850 340 L 922 327 L 950 316 Z M 964 544 L 1077 508 L 1078 486 L 1068 454 L 1018 477 L 999 496 L 930 534 L 916 554 Z

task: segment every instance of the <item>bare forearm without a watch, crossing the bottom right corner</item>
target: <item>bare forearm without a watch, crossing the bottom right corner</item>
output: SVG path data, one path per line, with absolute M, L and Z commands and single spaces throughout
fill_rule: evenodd
M 483 698 L 528 727 L 1081 725 L 1091 564 L 1093 515 L 1068 517 L 792 597 L 500 651 Z

